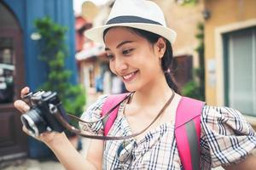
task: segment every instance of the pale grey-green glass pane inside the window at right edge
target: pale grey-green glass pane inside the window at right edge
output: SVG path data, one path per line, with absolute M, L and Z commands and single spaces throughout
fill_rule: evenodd
M 229 39 L 229 103 L 247 115 L 256 116 L 253 105 L 253 30 L 230 34 Z M 254 107 L 254 108 L 253 108 Z

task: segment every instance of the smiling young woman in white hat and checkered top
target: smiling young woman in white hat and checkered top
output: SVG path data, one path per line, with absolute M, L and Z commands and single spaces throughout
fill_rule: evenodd
M 160 8 L 145 0 L 116 0 L 105 26 L 87 32 L 91 39 L 104 42 L 111 71 L 134 92 L 120 106 L 109 136 L 127 136 L 148 127 L 138 136 L 122 140 L 90 142 L 84 159 L 64 133 L 46 132 L 38 137 L 54 151 L 67 169 L 183 169 L 177 152 L 174 123 L 181 99 L 172 81 L 172 43 L 175 32 L 166 27 Z M 29 92 L 23 88 L 21 97 Z M 170 98 L 172 96 L 172 98 Z M 90 105 L 82 119 L 101 117 L 107 95 Z M 166 105 L 167 101 L 171 101 Z M 21 100 L 15 107 L 26 112 Z M 103 135 L 102 122 L 82 124 L 82 129 Z M 26 128 L 24 131 L 27 132 Z M 256 134 L 239 111 L 205 105 L 201 112 L 201 169 L 223 166 L 226 169 L 254 169 L 251 155 Z

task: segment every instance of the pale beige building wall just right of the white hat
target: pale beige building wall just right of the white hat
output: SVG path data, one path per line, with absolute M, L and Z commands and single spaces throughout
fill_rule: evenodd
M 154 0 L 160 5 L 166 16 L 167 26 L 177 32 L 177 39 L 173 44 L 175 56 L 189 54 L 193 56 L 194 66 L 198 66 L 195 48 L 198 40 L 195 38 L 197 24 L 203 22 L 201 14 L 204 6 L 203 1 L 199 0 L 195 5 L 180 5 L 174 0 Z

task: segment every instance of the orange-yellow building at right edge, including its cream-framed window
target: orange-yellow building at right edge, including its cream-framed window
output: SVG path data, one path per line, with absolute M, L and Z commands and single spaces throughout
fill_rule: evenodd
M 256 126 L 256 1 L 205 0 L 206 97 Z

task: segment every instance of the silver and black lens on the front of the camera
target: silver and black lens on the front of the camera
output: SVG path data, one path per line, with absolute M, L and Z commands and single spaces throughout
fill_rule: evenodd
M 40 112 L 35 109 L 27 111 L 26 114 L 20 116 L 20 119 L 32 136 L 39 136 L 40 133 L 43 133 L 47 129 L 44 118 L 40 116 Z

